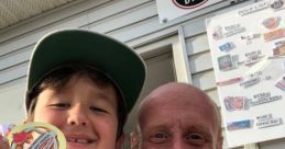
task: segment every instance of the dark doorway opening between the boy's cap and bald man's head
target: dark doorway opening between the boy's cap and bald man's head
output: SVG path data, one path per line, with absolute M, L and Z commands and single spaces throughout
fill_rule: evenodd
M 130 148 L 129 134 L 135 128 L 138 124 L 138 110 L 143 99 L 158 85 L 176 81 L 171 46 L 152 50 L 151 54 L 149 53 L 147 55 L 143 55 L 143 59 L 146 65 L 146 80 L 140 98 L 132 108 L 124 127 L 124 133 L 127 135 L 124 149 Z

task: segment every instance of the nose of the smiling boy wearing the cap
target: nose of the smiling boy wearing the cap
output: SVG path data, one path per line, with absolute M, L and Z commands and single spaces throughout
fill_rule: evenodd
M 74 105 L 68 113 L 68 125 L 83 125 L 88 124 L 87 112 L 81 105 Z

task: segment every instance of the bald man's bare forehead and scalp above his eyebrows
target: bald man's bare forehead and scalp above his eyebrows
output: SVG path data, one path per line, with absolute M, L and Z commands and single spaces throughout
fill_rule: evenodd
M 141 115 L 178 116 L 179 113 L 198 114 L 201 118 L 216 121 L 216 105 L 200 90 L 189 85 L 165 85 L 154 90 L 142 104 Z M 160 114 L 160 115 L 157 115 Z M 143 118 L 143 117 L 142 117 Z M 188 117 L 191 118 L 191 117 Z

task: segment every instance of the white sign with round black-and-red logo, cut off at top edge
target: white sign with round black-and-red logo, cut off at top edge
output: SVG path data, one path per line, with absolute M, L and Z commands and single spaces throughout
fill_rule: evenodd
M 160 23 L 167 23 L 222 0 L 156 0 Z

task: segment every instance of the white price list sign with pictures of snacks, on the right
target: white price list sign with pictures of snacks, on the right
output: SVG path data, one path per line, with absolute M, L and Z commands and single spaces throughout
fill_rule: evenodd
M 285 0 L 206 20 L 230 147 L 285 137 Z

